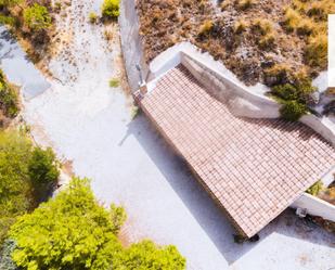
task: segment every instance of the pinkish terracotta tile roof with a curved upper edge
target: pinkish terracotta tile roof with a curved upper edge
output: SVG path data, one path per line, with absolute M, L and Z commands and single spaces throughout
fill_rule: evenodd
M 246 236 L 335 164 L 334 149 L 309 127 L 237 118 L 183 66 L 160 78 L 140 105 Z

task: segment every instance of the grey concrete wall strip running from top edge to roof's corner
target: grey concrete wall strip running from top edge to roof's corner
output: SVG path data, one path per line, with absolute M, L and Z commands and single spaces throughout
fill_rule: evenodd
M 136 0 L 121 0 L 119 26 L 128 82 L 131 91 L 134 92 L 138 90 L 140 81 L 136 65 L 140 64 L 143 78 L 146 77 L 149 70 L 139 34 L 139 17 L 136 10 Z

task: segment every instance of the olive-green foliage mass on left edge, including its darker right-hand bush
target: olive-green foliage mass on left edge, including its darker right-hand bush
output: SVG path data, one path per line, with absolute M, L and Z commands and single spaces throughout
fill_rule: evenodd
M 31 210 L 43 183 L 55 181 L 57 167 L 51 150 L 34 147 L 15 131 L 0 131 L 0 246 L 15 219 Z M 44 179 L 46 178 L 46 179 Z

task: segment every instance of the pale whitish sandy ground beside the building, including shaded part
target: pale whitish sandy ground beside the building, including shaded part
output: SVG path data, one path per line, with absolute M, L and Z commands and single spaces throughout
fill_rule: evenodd
M 306 226 L 289 210 L 260 233 L 260 242 L 233 243 L 230 223 L 183 163 L 143 115 L 131 119 L 131 99 L 123 89 L 108 87 L 120 74 L 120 49 L 117 35 L 108 46 L 104 26 L 88 23 L 89 12 L 100 4 L 73 0 L 67 21 L 73 41 L 50 64 L 57 79 L 44 93 L 25 100 L 24 117 L 39 143 L 72 160 L 75 173 L 92 179 L 102 203 L 125 206 L 123 241 L 150 237 L 175 244 L 188 269 L 335 268 L 335 236 Z M 22 63 L 17 76 L 25 68 L 31 66 Z

